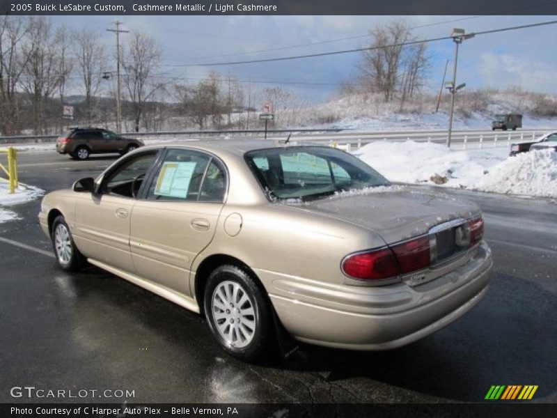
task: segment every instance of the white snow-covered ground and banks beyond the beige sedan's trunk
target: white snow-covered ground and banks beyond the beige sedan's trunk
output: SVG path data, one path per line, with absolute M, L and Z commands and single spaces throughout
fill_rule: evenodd
M 441 185 L 557 197 L 557 153 L 553 150 L 508 157 L 506 147 L 448 150 L 440 144 L 378 141 L 356 150 L 354 155 L 394 182 L 446 182 Z

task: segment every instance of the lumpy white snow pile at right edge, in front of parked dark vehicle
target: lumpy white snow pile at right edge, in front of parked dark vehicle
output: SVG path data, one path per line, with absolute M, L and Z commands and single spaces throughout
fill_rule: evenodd
M 554 150 L 540 150 L 509 158 L 483 176 L 476 189 L 557 197 L 557 153 Z

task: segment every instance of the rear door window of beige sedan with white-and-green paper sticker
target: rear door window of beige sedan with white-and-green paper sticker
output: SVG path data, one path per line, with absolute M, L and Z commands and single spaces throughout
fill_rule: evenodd
M 168 150 L 149 187 L 147 199 L 222 201 L 226 175 L 211 155 L 196 150 Z

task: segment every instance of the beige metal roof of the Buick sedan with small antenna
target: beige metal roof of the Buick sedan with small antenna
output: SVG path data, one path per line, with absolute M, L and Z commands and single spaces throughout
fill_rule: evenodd
M 315 144 L 304 141 L 289 141 L 285 144 L 285 139 L 212 139 L 203 141 L 183 141 L 183 142 L 164 142 L 161 144 L 152 144 L 146 148 L 198 148 L 212 153 L 218 153 L 219 150 L 227 150 L 230 153 L 244 155 L 253 150 L 262 150 L 265 148 L 289 148 L 298 146 L 324 146 L 323 144 Z

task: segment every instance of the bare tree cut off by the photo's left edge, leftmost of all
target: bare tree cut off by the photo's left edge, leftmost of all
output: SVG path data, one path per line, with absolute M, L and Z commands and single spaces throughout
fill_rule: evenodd
M 21 47 L 29 31 L 23 17 L 0 17 L 0 131 L 4 135 L 19 132 L 19 103 L 16 87 L 29 57 Z

